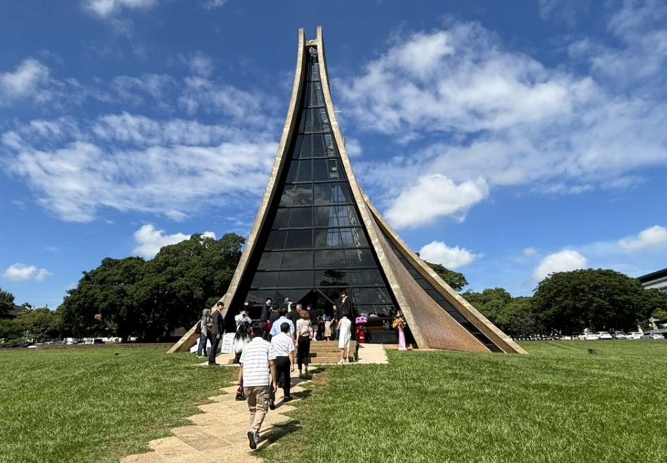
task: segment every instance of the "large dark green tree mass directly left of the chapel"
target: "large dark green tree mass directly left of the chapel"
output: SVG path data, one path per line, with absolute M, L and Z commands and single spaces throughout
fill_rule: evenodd
M 84 272 L 58 311 L 74 336 L 113 334 L 145 341 L 164 339 L 190 326 L 211 298 L 231 282 L 244 238 L 199 234 L 163 247 L 151 261 L 104 259 Z

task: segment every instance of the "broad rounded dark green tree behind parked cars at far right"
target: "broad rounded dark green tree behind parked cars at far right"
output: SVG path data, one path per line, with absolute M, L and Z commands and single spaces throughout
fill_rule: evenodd
M 659 306 L 639 280 L 602 269 L 554 273 L 538 284 L 533 300 L 541 323 L 563 334 L 632 330 Z

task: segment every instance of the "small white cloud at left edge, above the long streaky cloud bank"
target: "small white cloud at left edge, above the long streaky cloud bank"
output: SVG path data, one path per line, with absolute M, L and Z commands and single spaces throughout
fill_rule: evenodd
M 31 97 L 47 99 L 42 86 L 49 82 L 49 68 L 38 60 L 26 58 L 12 72 L 0 73 L 0 104 L 13 99 Z

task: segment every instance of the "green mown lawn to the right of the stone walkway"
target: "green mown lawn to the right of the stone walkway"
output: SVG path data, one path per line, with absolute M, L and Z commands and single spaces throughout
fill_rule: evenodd
M 664 462 L 667 342 L 389 352 L 331 366 L 269 462 Z M 598 355 L 589 355 L 594 348 Z M 297 429 L 292 423 L 290 430 Z

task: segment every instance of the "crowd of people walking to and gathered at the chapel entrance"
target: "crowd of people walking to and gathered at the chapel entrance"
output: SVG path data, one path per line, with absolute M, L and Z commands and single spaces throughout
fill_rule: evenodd
M 216 365 L 217 348 L 224 333 L 222 311 L 224 304 L 217 303 L 217 310 L 204 309 L 196 331 L 199 333 L 197 355 L 206 356 L 207 341 L 211 341 L 208 364 Z M 349 363 L 349 343 L 352 339 L 352 304 L 345 293 L 323 315 L 315 315 L 313 307 L 294 304 L 285 298 L 283 304 L 274 304 L 267 298 L 259 320 L 253 321 L 247 311 L 234 317 L 236 333 L 232 344 L 235 362 L 240 364 L 237 400 L 246 400 L 250 412 L 250 429 L 247 432 L 250 448 L 257 448 L 259 431 L 268 409 L 276 407 L 276 391 L 283 389 L 283 403 L 292 400 L 291 375 L 295 364 L 299 377 L 308 376 L 311 342 L 338 339 L 340 361 Z

